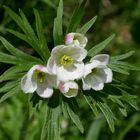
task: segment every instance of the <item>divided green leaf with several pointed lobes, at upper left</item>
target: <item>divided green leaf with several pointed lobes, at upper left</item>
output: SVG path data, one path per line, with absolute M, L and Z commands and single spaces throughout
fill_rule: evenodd
M 26 16 L 24 15 L 24 13 L 21 10 L 19 10 L 19 13 L 21 16 L 20 17 L 15 12 L 13 12 L 10 8 L 8 8 L 6 6 L 4 6 L 4 7 L 5 7 L 6 12 L 17 23 L 17 25 L 22 29 L 22 31 L 25 33 L 25 35 L 22 33 L 13 31 L 13 30 L 9 30 L 9 32 L 11 32 L 12 34 L 21 38 L 22 40 L 26 41 L 29 45 L 31 45 L 33 47 L 33 49 L 40 55 L 40 57 L 45 62 L 47 62 L 50 54 L 49 54 L 49 50 L 48 50 L 45 38 L 43 37 L 44 34 L 42 32 L 41 20 L 40 20 L 40 17 L 39 17 L 39 14 L 37 13 L 37 11 L 35 11 L 35 17 L 36 17 L 37 35 L 39 35 L 39 38 L 36 36 L 34 30 L 32 29 L 30 23 L 28 22 Z

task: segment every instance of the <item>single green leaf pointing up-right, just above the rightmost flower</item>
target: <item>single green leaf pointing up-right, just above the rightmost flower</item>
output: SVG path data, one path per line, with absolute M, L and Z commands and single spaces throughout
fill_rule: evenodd
M 98 54 L 99 52 L 101 52 L 109 43 L 110 41 L 115 37 L 115 35 L 111 35 L 110 37 L 108 37 L 106 40 L 104 40 L 103 42 L 95 45 L 93 48 L 91 48 L 88 51 L 88 56 L 93 57 L 96 54 Z

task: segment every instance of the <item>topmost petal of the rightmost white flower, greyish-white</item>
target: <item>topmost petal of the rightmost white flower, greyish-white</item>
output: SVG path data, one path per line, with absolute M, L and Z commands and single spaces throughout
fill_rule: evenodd
M 107 65 L 109 62 L 109 55 L 107 54 L 99 54 L 91 58 L 90 62 L 92 61 L 100 61 L 101 65 Z

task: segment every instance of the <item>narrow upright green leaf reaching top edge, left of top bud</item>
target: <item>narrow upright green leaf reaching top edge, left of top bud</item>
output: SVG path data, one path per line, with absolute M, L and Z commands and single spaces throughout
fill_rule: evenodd
M 55 45 L 62 43 L 63 30 L 62 30 L 62 17 L 63 17 L 63 1 L 59 1 L 57 9 L 57 17 L 54 19 L 53 38 Z

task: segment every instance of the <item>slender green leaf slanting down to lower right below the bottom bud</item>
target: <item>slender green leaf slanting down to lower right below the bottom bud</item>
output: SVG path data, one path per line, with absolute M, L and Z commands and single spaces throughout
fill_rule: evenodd
M 70 118 L 72 119 L 72 121 L 74 122 L 74 124 L 78 127 L 78 129 L 81 131 L 81 133 L 84 133 L 84 128 L 80 121 L 80 118 L 74 113 L 74 111 L 70 108 L 70 106 L 68 104 L 65 104 L 65 106 L 66 106 L 68 114 L 69 114 Z

